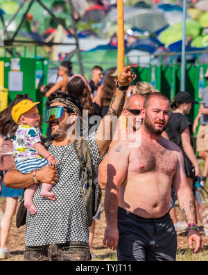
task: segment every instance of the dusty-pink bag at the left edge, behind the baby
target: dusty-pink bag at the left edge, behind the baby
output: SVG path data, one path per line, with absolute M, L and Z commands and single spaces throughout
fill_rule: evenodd
M 7 171 L 14 163 L 13 159 L 13 144 L 11 139 L 4 141 L 0 147 L 0 170 Z

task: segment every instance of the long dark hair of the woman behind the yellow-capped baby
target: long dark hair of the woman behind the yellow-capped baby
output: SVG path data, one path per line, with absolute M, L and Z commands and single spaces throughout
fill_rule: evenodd
M 21 100 L 31 100 L 28 94 L 16 95 L 15 100 L 10 102 L 8 107 L 0 112 L 0 134 L 7 136 L 10 133 L 11 139 L 14 138 L 18 125 L 12 119 L 12 108 Z

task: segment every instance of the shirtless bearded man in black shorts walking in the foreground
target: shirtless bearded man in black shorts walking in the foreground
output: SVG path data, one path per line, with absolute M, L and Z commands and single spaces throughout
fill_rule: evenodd
M 141 132 L 136 132 L 141 134 L 141 145 L 132 148 L 132 141 L 126 139 L 114 143 L 110 150 L 103 244 L 117 248 L 118 260 L 175 260 L 177 237 L 168 214 L 171 184 L 184 219 L 193 223 L 188 238 L 190 248 L 196 242 L 195 253 L 202 239 L 196 226 L 194 196 L 184 175 L 180 148 L 161 136 L 170 116 L 168 98 L 150 94 L 141 116 Z

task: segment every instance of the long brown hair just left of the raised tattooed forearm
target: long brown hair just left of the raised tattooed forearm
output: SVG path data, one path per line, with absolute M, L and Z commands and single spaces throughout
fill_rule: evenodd
M 115 70 L 115 68 L 110 68 L 107 71 L 105 80 L 103 81 L 102 107 L 110 106 L 112 96 L 114 95 L 114 91 L 116 90 L 116 84 L 114 82 L 115 77 L 111 76 L 111 74 L 114 73 Z

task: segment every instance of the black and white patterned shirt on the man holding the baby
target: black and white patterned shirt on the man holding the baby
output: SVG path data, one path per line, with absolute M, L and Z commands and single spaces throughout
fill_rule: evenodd
M 102 159 L 99 156 L 96 134 L 88 136 L 94 169 Z M 27 214 L 26 246 L 62 244 L 67 241 L 87 242 L 89 230 L 86 226 L 83 198 L 78 187 L 79 164 L 73 143 L 67 146 L 49 146 L 51 155 L 58 159 L 58 181 L 51 189 L 56 200 L 50 201 L 40 196 L 41 184 L 37 186 L 33 203 L 36 214 Z

